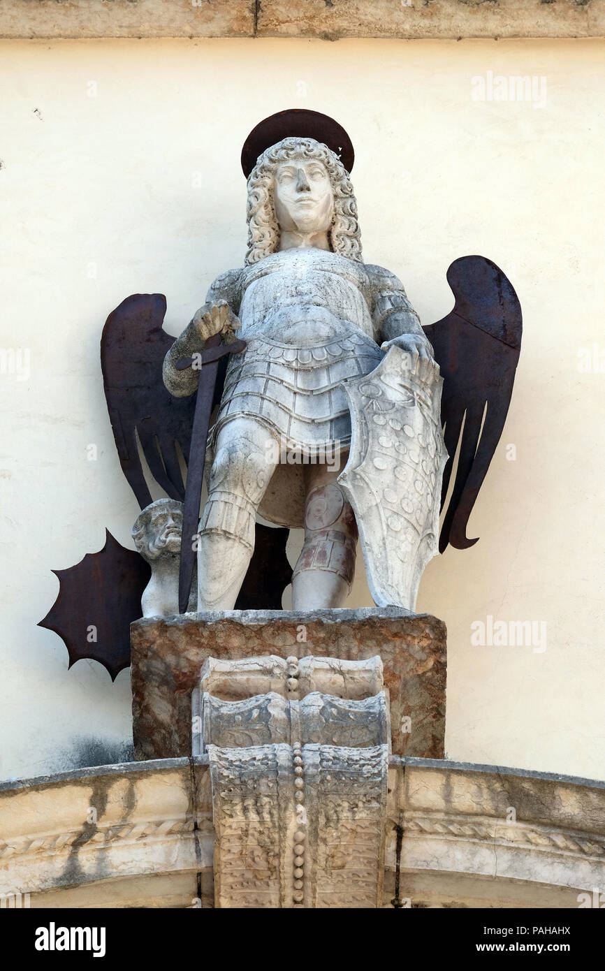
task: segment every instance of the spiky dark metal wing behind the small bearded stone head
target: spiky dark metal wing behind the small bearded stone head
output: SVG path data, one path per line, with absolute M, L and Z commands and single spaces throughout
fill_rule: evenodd
M 63 640 L 69 667 L 82 657 L 99 661 L 112 681 L 130 664 L 130 624 L 141 617 L 141 596 L 151 569 L 138 552 L 126 550 L 105 530 L 105 546 L 87 552 L 67 570 L 53 570 L 59 593 L 39 627 Z

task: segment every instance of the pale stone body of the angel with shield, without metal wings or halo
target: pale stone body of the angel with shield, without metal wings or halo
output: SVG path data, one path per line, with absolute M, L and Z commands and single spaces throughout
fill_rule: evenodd
M 353 185 L 325 145 L 288 137 L 260 154 L 248 180 L 248 226 L 245 267 L 218 277 L 164 361 L 166 387 L 190 395 L 200 372 L 178 370 L 177 361 L 236 328 L 247 343 L 229 359 L 209 439 L 197 609 L 233 608 L 257 512 L 304 526 L 294 610 L 342 605 L 358 530 L 377 603 L 413 609 L 421 569 L 437 552 L 446 460 L 431 345 L 397 277 L 362 262 Z M 386 352 L 387 373 L 369 383 Z M 375 416 L 369 437 L 364 411 Z M 350 459 L 339 477 L 352 415 L 353 439 L 357 427 L 365 441 L 353 441 L 354 466 Z M 368 461 L 378 492 L 364 473 Z M 372 534 L 364 531 L 371 507 L 385 503 L 381 532 L 376 517 Z

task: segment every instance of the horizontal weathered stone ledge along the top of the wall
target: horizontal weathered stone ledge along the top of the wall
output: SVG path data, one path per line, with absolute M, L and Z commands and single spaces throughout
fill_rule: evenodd
M 3 0 L 2 37 L 602 37 L 605 3 L 573 0 Z

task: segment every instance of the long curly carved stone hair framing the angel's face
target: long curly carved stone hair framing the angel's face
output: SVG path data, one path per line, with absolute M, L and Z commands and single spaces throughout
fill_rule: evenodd
M 327 170 L 334 194 L 334 216 L 328 230 L 332 250 L 362 263 L 357 203 L 349 173 L 334 152 L 315 138 L 285 138 L 259 156 L 248 178 L 246 263 L 257 263 L 278 248 L 280 227 L 273 203 L 273 180 L 281 162 L 298 157 L 315 158 Z

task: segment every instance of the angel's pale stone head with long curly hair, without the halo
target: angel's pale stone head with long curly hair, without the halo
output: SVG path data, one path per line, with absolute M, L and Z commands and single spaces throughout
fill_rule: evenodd
M 314 138 L 263 151 L 248 179 L 247 263 L 277 251 L 282 232 L 326 232 L 330 248 L 361 262 L 357 204 L 338 156 Z

